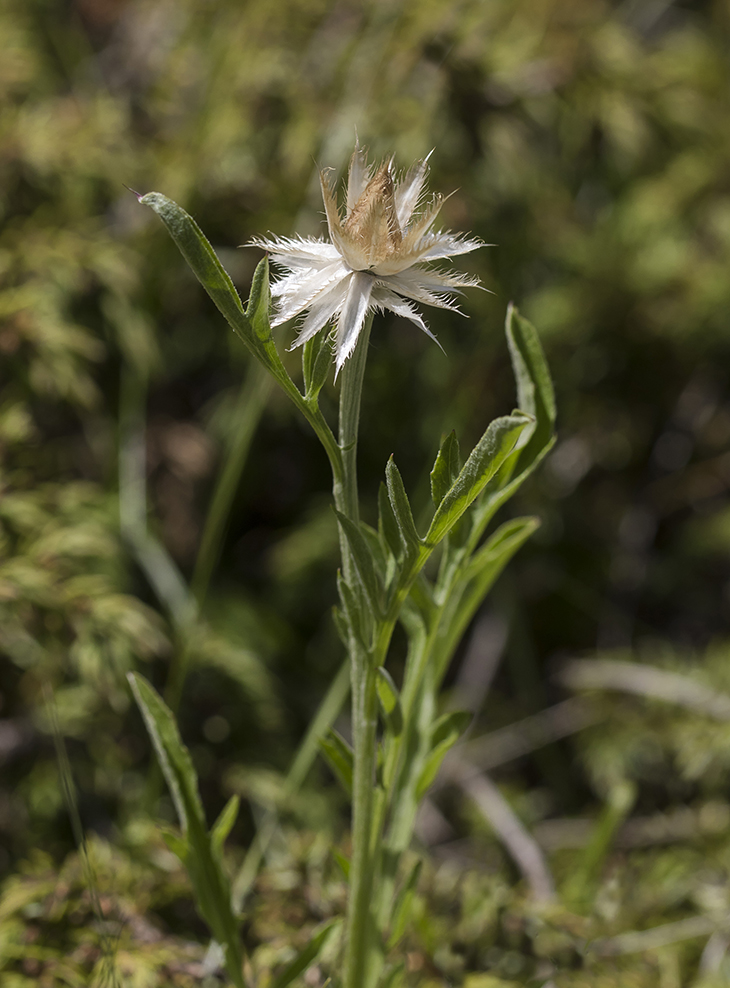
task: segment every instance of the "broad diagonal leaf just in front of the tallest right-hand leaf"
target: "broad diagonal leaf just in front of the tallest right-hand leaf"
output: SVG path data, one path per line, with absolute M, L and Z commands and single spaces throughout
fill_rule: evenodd
M 523 429 L 533 423 L 531 416 L 520 411 L 491 423 L 436 508 L 426 535 L 429 545 L 436 545 L 448 534 L 514 450 Z

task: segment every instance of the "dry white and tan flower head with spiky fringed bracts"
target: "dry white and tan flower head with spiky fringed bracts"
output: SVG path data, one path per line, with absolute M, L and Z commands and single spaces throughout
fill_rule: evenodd
M 434 269 L 427 262 L 466 254 L 482 243 L 432 229 L 444 199 L 436 195 L 423 203 L 428 158 L 416 162 L 404 176 L 396 176 L 392 160 L 376 170 L 368 164 L 366 149 L 356 145 L 344 219 L 329 171 L 320 172 L 329 241 L 277 237 L 252 243 L 268 251 L 287 272 L 271 286 L 276 304 L 272 325 L 307 311 L 293 346 L 306 343 L 337 318 L 337 376 L 372 309 L 405 316 L 435 340 L 408 300 L 458 312 L 452 293 L 478 285 L 479 279 Z

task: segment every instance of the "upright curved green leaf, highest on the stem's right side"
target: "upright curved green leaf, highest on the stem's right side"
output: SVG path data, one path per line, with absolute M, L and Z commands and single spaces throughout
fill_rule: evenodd
M 555 392 L 535 327 L 512 304 L 507 309 L 505 332 L 517 382 L 517 406 L 535 419 L 527 443 L 530 451 L 520 457 L 521 461 L 527 461 L 535 458 L 552 435 L 556 417 Z M 521 462 L 520 468 L 525 466 L 526 462 Z

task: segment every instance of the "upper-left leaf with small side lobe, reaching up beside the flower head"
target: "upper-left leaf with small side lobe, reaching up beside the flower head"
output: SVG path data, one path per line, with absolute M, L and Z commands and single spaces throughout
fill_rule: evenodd
M 250 318 L 261 315 L 262 300 L 268 304 L 268 261 L 262 261 L 256 269 L 252 289 L 253 306 L 249 303 L 247 314 L 230 276 L 192 216 L 159 192 L 149 192 L 139 201 L 144 206 L 150 206 L 160 217 L 195 277 L 215 302 L 231 329 L 278 381 L 293 387 L 271 336 L 268 315 L 265 322 L 259 318 L 255 327 Z

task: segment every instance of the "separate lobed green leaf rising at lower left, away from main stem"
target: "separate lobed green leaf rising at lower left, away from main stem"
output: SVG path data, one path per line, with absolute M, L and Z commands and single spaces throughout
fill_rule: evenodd
M 172 711 L 142 676 L 129 673 L 127 678 L 155 746 L 183 830 L 183 839 L 167 835 L 168 846 L 185 865 L 198 912 L 223 948 L 228 976 L 236 988 L 245 988 L 240 921 L 233 912 L 230 882 L 222 861 L 223 840 L 233 825 L 236 803 L 229 803 L 213 833 L 209 834 L 195 769 Z

